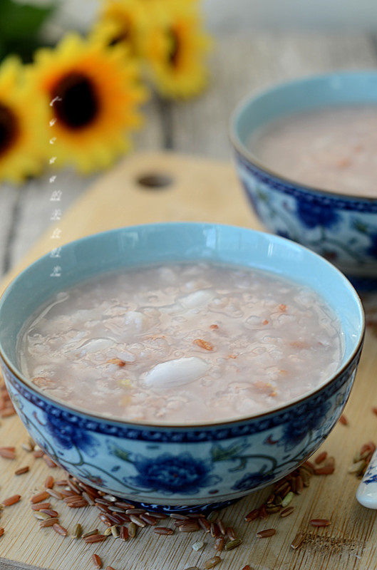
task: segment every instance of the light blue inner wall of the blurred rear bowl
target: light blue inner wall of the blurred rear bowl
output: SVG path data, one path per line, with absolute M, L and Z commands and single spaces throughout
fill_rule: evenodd
M 283 83 L 244 100 L 231 120 L 247 149 L 251 133 L 270 120 L 328 105 L 377 104 L 377 71 L 351 71 Z

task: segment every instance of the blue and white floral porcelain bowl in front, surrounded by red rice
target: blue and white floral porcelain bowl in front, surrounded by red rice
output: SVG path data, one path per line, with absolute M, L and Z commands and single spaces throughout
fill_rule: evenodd
M 205 259 L 274 271 L 318 291 L 339 315 L 344 358 L 304 397 L 252 417 L 204 425 L 141 425 L 100 417 L 46 395 L 19 369 L 17 338 L 49 297 L 121 267 Z M 71 475 L 148 509 L 205 510 L 278 480 L 329 434 L 351 390 L 361 353 L 361 302 L 328 261 L 287 239 L 216 224 L 150 224 L 79 239 L 61 249 L 61 277 L 46 255 L 23 271 L 0 302 L 1 369 L 31 437 Z M 91 395 L 88 394 L 88 398 Z

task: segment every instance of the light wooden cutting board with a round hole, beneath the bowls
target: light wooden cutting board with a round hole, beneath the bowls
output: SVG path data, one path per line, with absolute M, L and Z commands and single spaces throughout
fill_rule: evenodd
M 170 185 L 159 189 L 140 185 L 149 175 L 169 177 Z M 153 182 L 153 180 L 147 180 Z M 51 205 L 51 208 L 53 205 Z M 58 222 L 59 244 L 93 232 L 143 222 L 194 220 L 222 222 L 259 228 L 229 164 L 174 154 L 133 155 L 100 178 Z M 3 287 L 20 269 L 48 252 L 58 243 L 48 229 L 21 264 L 4 279 Z M 1 288 L 1 289 L 2 289 Z M 267 521 L 246 524 L 244 514 L 262 503 L 268 490 L 249 495 L 224 510 L 223 519 L 237 529 L 243 544 L 221 554 L 219 570 L 241 570 L 250 564 L 255 570 L 348 570 L 377 568 L 376 514 L 364 509 L 355 499 L 358 480 L 348 475 L 347 467 L 363 442 L 377 440 L 377 338 L 368 331 L 356 383 L 346 408 L 349 425 L 338 424 L 323 445 L 336 458 L 334 475 L 312 477 L 310 487 L 294 497 L 294 512 L 285 519 L 273 514 Z M 62 538 L 51 529 L 39 529 L 29 507 L 29 497 L 42 489 L 48 472 L 56 478 L 61 470 L 48 470 L 43 460 L 34 459 L 21 448 L 26 431 L 18 418 L 2 420 L 0 445 L 16 445 L 15 461 L 0 458 L 0 502 L 12 494 L 21 502 L 4 509 L 0 527 L 0 570 L 43 568 L 48 570 L 93 569 L 91 554 L 99 554 L 103 566 L 115 570 L 183 570 L 203 567 L 214 556 L 213 541 L 206 535 L 205 549 L 192 550 L 202 535 L 175 534 L 157 537 L 142 529 L 135 540 L 108 539 L 100 546 L 86 546 L 71 537 Z M 16 477 L 18 467 L 30 465 L 30 472 Z M 94 507 L 68 509 L 61 502 L 51 503 L 61 514 L 61 523 L 72 531 L 81 522 L 85 531 L 98 526 Z M 54 507 L 53 507 L 54 508 Z M 72 512 L 73 511 L 73 512 Z M 331 526 L 316 531 L 309 527 L 312 518 L 329 518 Z M 102 523 L 99 523 L 102 524 Z M 257 530 L 277 529 L 268 539 L 257 539 Z M 101 527 L 100 527 L 101 528 Z M 103 529 L 102 529 L 103 530 Z M 298 551 L 290 547 L 297 532 L 306 533 L 306 543 Z

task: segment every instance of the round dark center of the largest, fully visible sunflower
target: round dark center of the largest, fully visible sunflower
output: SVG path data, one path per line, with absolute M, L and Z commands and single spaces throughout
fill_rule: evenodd
M 81 73 L 68 73 L 56 83 L 52 98 L 54 109 L 61 123 L 79 129 L 93 123 L 98 115 L 99 104 L 95 86 Z

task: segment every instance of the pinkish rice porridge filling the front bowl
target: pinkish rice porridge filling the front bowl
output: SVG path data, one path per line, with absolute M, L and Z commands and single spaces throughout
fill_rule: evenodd
M 343 353 L 314 291 L 211 263 L 105 274 L 63 291 L 19 339 L 24 374 L 68 404 L 141 423 L 254 415 L 309 393 Z

